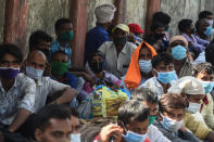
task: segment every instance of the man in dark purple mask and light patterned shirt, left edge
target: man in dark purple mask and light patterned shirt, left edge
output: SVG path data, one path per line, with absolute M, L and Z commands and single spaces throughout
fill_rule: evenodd
M 0 44 L 0 126 L 15 132 L 34 113 L 36 85 L 20 73 L 22 51 Z

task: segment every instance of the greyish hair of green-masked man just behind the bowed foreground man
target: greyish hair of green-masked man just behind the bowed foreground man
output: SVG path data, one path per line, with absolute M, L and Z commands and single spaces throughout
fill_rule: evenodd
M 156 104 L 159 102 L 158 95 L 155 95 L 154 92 L 152 92 L 148 88 L 141 88 L 141 89 L 135 90 L 131 93 L 130 99 L 140 101 L 140 102 L 146 101 L 152 104 Z

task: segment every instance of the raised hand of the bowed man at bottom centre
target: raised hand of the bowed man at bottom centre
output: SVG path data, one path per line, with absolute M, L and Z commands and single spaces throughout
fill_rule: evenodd
M 114 138 L 114 142 L 121 142 L 122 133 L 123 129 L 119 126 L 113 124 L 108 125 L 102 128 L 99 142 L 109 142 L 112 137 Z

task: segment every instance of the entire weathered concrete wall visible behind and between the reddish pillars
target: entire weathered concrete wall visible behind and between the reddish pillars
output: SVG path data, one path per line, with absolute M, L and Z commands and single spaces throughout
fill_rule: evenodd
M 3 17 L 7 0 L 0 0 L 0 42 L 3 35 Z M 32 31 L 43 29 L 54 36 L 54 23 L 60 17 L 68 17 L 70 0 L 28 0 L 28 26 L 27 39 Z M 87 29 L 96 24 L 95 8 L 102 3 L 114 3 L 114 0 L 88 0 Z M 177 23 L 181 18 L 192 18 L 197 21 L 201 10 L 214 12 L 213 0 L 161 0 L 161 11 L 172 16 L 171 35 L 177 35 Z M 138 23 L 144 28 L 144 17 L 147 11 L 147 0 L 127 0 L 126 24 Z

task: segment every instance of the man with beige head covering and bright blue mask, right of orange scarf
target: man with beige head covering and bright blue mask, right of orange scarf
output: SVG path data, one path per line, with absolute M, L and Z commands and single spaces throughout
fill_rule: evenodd
M 192 57 L 188 51 L 188 41 L 182 36 L 174 36 L 169 40 L 168 53 L 178 77 L 190 76 L 192 72 Z

